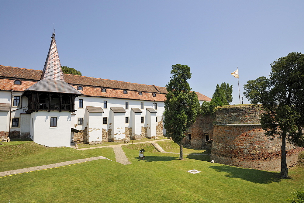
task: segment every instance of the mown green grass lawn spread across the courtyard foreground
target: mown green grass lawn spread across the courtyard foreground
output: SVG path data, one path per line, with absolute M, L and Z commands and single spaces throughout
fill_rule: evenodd
M 303 167 L 290 169 L 290 177 L 281 179 L 279 172 L 210 163 L 209 156 L 185 155 L 185 160 L 178 160 L 178 154 L 153 152 L 149 146 L 144 148 L 145 160 L 140 161 L 134 146 L 123 146 L 132 163 L 129 165 L 95 160 L 0 178 L 0 202 L 283 202 L 293 189 L 304 189 Z M 36 155 L 36 161 L 43 161 L 46 156 L 42 151 L 48 150 L 38 152 L 41 156 Z M 50 150 L 75 156 L 74 150 Z M 113 160 L 113 151 L 102 150 L 112 149 L 81 153 Z M 20 157 L 12 157 L 11 161 Z M 202 172 L 186 172 L 192 169 Z

